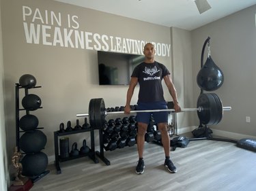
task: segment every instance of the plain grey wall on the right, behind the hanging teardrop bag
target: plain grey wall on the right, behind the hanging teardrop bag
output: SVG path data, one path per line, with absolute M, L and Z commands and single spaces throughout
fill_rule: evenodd
M 256 5 L 245 10 L 207 24 L 191 31 L 193 44 L 193 82 L 194 97 L 199 92 L 196 77 L 200 68 L 201 49 L 208 36 L 211 56 L 214 63 L 224 73 L 223 86 L 214 91 L 223 101 L 231 106 L 231 111 L 224 111 L 223 120 L 214 128 L 214 133 L 233 138 L 256 136 L 256 78 L 255 78 L 255 29 Z M 205 49 L 204 60 L 206 60 Z M 246 116 L 251 122 L 246 122 Z

